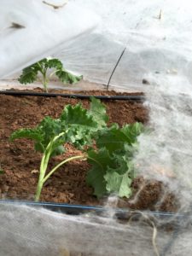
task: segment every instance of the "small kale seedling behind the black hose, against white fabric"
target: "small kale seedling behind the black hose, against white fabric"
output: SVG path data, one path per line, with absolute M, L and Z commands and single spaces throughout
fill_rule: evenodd
M 47 71 L 49 68 L 54 68 L 55 71 L 51 73 L 48 77 Z M 44 85 L 44 90 L 46 92 L 48 92 L 47 85 L 49 83 L 49 79 L 54 74 L 64 84 L 74 84 L 82 79 L 82 76 L 75 76 L 72 73 L 68 73 L 67 70 L 65 70 L 62 66 L 60 60 L 45 58 L 41 61 L 32 64 L 29 67 L 24 68 L 18 81 L 20 82 L 20 84 L 31 84 L 34 81 L 38 80 L 38 73 L 41 73 L 42 75 L 42 79 L 40 79 L 40 82 Z

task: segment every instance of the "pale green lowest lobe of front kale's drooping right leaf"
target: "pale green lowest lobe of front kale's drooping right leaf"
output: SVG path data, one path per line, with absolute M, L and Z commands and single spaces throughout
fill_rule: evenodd
M 108 169 L 108 172 L 104 178 L 107 183 L 106 189 L 108 190 L 108 193 L 115 193 L 120 197 L 125 196 L 127 198 L 131 196 L 132 179 L 129 177 L 128 172 L 125 172 L 125 174 L 122 175 Z

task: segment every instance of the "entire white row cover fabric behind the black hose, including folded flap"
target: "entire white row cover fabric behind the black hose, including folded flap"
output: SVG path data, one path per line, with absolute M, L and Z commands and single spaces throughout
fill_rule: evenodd
M 144 90 L 150 73 L 191 83 L 190 9 L 189 0 L 69 0 L 61 9 L 41 0 L 2 0 L 0 77 L 54 55 L 84 79 L 108 84 L 126 48 L 110 81 L 116 88 Z M 12 22 L 26 27 L 11 29 Z

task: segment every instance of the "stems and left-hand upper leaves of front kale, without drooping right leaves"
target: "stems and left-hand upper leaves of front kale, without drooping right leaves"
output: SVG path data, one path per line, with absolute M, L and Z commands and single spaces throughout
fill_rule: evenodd
M 60 166 L 72 160 L 86 159 L 84 146 L 92 145 L 97 131 L 106 127 L 107 121 L 108 116 L 103 104 L 96 98 L 91 98 L 89 110 L 84 109 L 80 104 L 74 107 L 67 105 L 59 119 L 45 117 L 33 129 L 20 129 L 12 133 L 11 141 L 21 137 L 32 139 L 35 142 L 35 150 L 43 154 L 35 201 L 39 201 L 44 183 Z M 50 158 L 65 152 L 63 146 L 65 143 L 72 143 L 76 148 L 82 149 L 82 154 L 62 160 L 48 170 Z

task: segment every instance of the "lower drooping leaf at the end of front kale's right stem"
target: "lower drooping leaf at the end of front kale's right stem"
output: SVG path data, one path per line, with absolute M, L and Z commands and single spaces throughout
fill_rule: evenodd
M 88 162 L 92 168 L 87 174 L 86 182 L 94 188 L 98 198 L 109 193 L 129 197 L 134 169 L 131 161 L 124 155 L 108 153 L 107 148 L 98 152 L 88 151 Z

